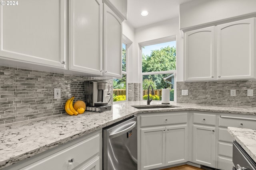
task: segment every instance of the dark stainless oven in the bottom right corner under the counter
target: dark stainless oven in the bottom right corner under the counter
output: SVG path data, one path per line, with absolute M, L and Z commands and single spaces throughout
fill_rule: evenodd
M 236 142 L 233 142 L 233 170 L 256 170 L 256 162 Z

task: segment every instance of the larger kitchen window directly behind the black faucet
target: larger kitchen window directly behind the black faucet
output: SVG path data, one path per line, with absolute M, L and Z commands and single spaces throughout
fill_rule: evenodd
M 176 36 L 140 43 L 142 56 L 142 99 L 147 100 L 148 86 L 154 88 L 153 100 L 161 100 L 162 89 L 170 89 L 174 101 L 176 79 Z M 150 88 L 151 98 L 151 88 Z

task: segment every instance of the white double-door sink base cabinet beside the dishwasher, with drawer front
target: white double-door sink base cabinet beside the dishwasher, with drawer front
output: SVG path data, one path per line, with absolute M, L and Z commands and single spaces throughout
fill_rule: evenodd
M 188 159 L 186 122 L 187 113 L 184 112 L 150 113 L 138 116 L 139 169 L 148 170 L 186 162 Z

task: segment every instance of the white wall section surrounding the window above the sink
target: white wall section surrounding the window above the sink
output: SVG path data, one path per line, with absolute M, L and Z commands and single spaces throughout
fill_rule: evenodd
M 183 81 L 183 39 L 180 36 L 179 18 L 166 20 L 135 29 L 134 82 L 141 82 L 141 59 L 138 43 L 176 35 L 177 81 Z

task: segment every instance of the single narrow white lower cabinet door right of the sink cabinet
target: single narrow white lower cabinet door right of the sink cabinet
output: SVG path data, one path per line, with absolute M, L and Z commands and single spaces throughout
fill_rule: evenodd
M 215 127 L 193 125 L 193 162 L 215 168 Z

